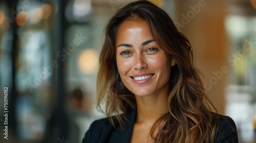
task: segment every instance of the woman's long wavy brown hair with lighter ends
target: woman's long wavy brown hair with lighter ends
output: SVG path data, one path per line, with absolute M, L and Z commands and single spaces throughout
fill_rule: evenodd
M 148 1 L 133 2 L 119 9 L 105 27 L 97 76 L 97 106 L 105 110 L 115 128 L 125 129 L 125 116 L 136 105 L 134 94 L 122 84 L 115 57 L 118 28 L 128 19 L 145 20 L 156 43 L 176 62 L 169 73 L 169 110 L 150 131 L 154 142 L 214 142 L 219 122 L 211 109 L 217 110 L 207 98 L 191 45 L 168 14 Z M 154 134 L 156 129 L 159 131 Z

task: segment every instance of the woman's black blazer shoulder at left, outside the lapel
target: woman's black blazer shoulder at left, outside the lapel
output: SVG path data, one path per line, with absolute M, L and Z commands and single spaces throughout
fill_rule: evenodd
M 84 135 L 82 143 L 85 142 L 100 142 L 100 140 L 106 140 L 109 134 L 114 130 L 109 118 L 102 118 L 94 121 L 89 130 Z

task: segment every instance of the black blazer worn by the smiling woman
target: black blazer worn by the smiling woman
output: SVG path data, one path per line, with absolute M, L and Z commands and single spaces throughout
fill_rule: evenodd
M 115 130 L 108 118 L 94 121 L 84 135 L 82 143 L 129 143 L 132 136 L 133 125 L 136 119 L 136 112 L 137 109 L 135 108 L 126 116 L 128 121 L 124 121 L 126 127 L 125 130 L 122 130 L 122 127 Z M 230 117 L 221 115 L 220 125 L 215 141 L 218 143 L 238 142 L 237 128 Z

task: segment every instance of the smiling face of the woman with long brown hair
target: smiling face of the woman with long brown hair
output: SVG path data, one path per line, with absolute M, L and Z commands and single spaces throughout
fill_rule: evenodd
M 116 62 L 124 86 L 136 96 L 166 96 L 175 64 L 153 39 L 144 20 L 125 20 L 116 37 Z

